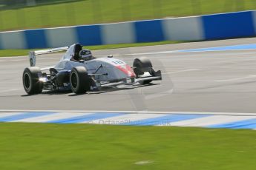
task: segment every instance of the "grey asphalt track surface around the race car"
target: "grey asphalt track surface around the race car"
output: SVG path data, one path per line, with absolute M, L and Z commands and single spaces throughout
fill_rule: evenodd
M 95 51 L 96 57 L 114 55 L 128 64 L 134 58 L 148 56 L 154 68 L 163 71 L 163 81 L 85 95 L 26 95 L 22 72 L 29 66 L 28 57 L 0 58 L 0 109 L 255 113 L 256 50 L 176 52 L 255 43 L 256 38 L 242 38 Z M 52 66 L 61 56 L 42 55 L 37 64 Z

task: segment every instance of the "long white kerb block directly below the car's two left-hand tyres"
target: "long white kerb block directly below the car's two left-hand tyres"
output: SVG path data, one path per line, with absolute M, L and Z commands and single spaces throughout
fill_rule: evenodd
M 91 115 L 91 113 L 79 113 L 79 112 L 58 112 L 52 115 L 44 115 L 36 118 L 26 118 L 22 120 L 14 120 L 12 122 L 26 122 L 26 123 L 43 123 L 52 120 L 73 118 L 76 116 Z

